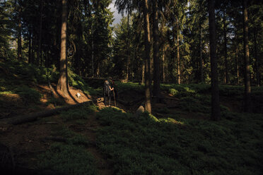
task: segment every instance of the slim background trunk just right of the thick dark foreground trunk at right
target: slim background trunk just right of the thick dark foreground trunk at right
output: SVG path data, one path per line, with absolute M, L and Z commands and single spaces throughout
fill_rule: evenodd
M 223 10 L 223 38 L 224 38 L 224 57 L 225 57 L 225 83 L 228 84 L 228 40 L 226 38 L 226 9 Z

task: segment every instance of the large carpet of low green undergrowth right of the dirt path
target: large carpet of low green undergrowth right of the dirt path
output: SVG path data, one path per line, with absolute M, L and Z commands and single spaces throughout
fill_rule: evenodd
M 148 114 L 136 119 L 103 109 L 98 143 L 115 174 L 262 174 L 263 119 L 236 115 L 219 122 Z

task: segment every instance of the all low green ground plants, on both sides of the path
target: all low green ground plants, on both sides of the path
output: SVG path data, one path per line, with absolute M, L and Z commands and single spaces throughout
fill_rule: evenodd
M 18 61 L 0 62 L 8 68 L 8 77 L 0 73 L 0 95 L 16 93 L 25 102 L 39 102 L 40 93 L 30 84 L 57 82 L 54 68 L 36 68 Z M 69 71 L 69 83 L 89 95 L 101 95 L 101 87 L 89 87 L 79 76 Z M 23 84 L 23 86 L 21 86 Z M 103 84 L 103 83 L 102 83 Z M 144 92 L 139 83 L 116 82 L 118 90 Z M 161 90 L 177 97 L 175 110 L 159 109 L 164 117 L 158 119 L 144 113 L 133 114 L 119 109 L 84 106 L 60 115 L 62 125 L 54 126 L 53 136 L 65 138 L 65 143 L 53 143 L 39 157 L 37 167 L 47 174 L 98 174 L 95 159 L 86 147 L 89 140 L 66 125 L 85 127 L 95 111 L 102 126 L 96 129 L 96 144 L 109 162 L 114 174 L 262 174 L 263 119 L 260 114 L 232 113 L 221 106 L 222 120 L 218 122 L 185 119 L 194 114 L 209 116 L 210 85 L 162 84 Z M 242 100 L 244 87 L 220 86 L 221 97 L 233 102 Z M 262 87 L 252 87 L 254 111 L 262 112 Z M 59 103 L 50 99 L 48 103 Z M 2 108 L 8 108 L 3 100 Z M 9 106 L 10 107 L 10 106 Z

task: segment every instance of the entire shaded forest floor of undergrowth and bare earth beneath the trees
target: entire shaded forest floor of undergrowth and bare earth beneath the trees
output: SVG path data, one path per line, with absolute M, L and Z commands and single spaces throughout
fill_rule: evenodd
M 50 72 L 51 70 L 49 70 Z M 0 61 L 1 174 L 262 174 L 263 89 L 252 87 L 254 114 L 242 112 L 242 86 L 221 85 L 221 121 L 211 121 L 210 85 L 162 84 L 152 114 L 136 117 L 144 85 L 117 85 L 117 101 L 102 102 L 103 80 L 70 74 L 69 96 L 48 75 Z M 52 76 L 53 75 L 53 76 Z M 50 80 L 52 89 L 46 83 Z M 74 86 L 74 87 L 73 87 Z M 77 94 L 81 97 L 77 97 Z M 6 119 L 69 107 L 21 124 Z

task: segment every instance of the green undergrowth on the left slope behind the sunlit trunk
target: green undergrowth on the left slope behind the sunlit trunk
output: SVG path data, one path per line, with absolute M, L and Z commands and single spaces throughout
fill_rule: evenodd
M 2 71 L 4 70 L 4 71 Z M 21 85 L 57 83 L 59 71 L 52 65 L 49 68 L 35 66 L 16 59 L 0 61 L 0 95 L 16 93 Z M 68 69 L 69 85 L 83 90 L 87 95 L 94 95 L 98 90 L 88 87 L 85 81 L 76 73 Z M 22 94 L 23 92 L 20 91 Z

